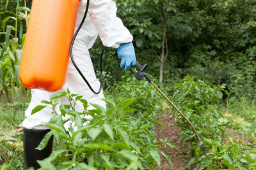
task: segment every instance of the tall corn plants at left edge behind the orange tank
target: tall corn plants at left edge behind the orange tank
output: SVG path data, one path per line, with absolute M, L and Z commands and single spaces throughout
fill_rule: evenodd
M 6 1 L 5 11 L 1 11 L 0 15 L 5 16 L 6 14 L 10 16 L 2 20 L 1 29 L 3 32 L 0 32 L 0 34 L 4 34 L 4 41 L 0 42 L 0 97 L 2 101 L 8 99 L 9 103 L 12 103 L 14 108 L 13 120 L 15 120 L 21 94 L 26 92 L 19 81 L 19 66 L 25 39 L 22 19 L 26 20 L 27 24 L 29 8 L 21 7 L 19 1 L 16 1 L 15 13 L 13 13 L 13 11 L 8 11 L 8 1 Z

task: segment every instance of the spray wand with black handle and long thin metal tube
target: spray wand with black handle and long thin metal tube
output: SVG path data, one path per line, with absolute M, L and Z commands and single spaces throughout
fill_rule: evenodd
M 132 69 L 130 69 L 131 73 L 135 75 L 135 78 L 138 80 L 141 80 L 143 77 L 145 77 L 148 82 L 150 82 L 162 95 L 163 97 L 170 103 L 172 104 L 173 108 L 175 108 L 175 110 L 177 110 L 180 115 L 182 115 L 183 118 L 185 118 L 185 120 L 189 123 L 189 125 L 191 125 L 191 127 L 193 128 L 193 131 L 196 134 L 196 137 L 198 139 L 198 141 L 201 141 L 201 138 L 199 137 L 198 133 L 196 132 L 195 127 L 193 126 L 193 124 L 191 124 L 191 122 L 188 120 L 188 118 L 186 118 L 186 116 L 179 110 L 179 108 L 177 108 L 175 106 L 175 104 L 172 103 L 172 101 L 170 101 L 170 99 L 168 99 L 168 97 L 166 97 L 166 95 L 155 85 L 155 83 L 149 78 L 149 76 L 147 75 L 147 73 L 145 73 L 145 70 L 147 69 L 147 64 L 144 64 L 143 66 L 141 66 L 138 62 L 136 62 L 137 69 L 140 70 L 140 72 L 136 72 Z

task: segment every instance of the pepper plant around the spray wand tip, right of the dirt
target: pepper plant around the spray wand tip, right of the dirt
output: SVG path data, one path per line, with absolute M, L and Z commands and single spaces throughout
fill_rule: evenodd
M 173 101 L 175 101 L 180 110 L 186 115 L 200 136 L 205 138 L 219 136 L 225 132 L 225 124 L 218 121 L 221 113 L 216 104 L 220 104 L 223 88 L 225 85 L 212 86 L 204 81 L 194 81 L 196 77 L 186 76 L 182 83 L 175 85 Z M 196 141 L 195 134 L 189 124 L 177 115 L 179 125 L 184 129 L 180 138 L 184 141 Z

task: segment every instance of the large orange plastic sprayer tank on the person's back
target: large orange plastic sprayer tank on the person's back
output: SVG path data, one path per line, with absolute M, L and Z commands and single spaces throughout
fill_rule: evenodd
M 65 82 L 79 0 L 33 0 L 19 78 L 28 89 L 55 92 Z

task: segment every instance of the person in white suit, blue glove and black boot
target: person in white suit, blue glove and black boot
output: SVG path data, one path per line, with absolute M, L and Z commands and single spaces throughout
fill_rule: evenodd
M 82 0 L 79 3 L 77 12 L 76 29 L 81 23 L 85 8 L 86 1 Z M 132 36 L 124 27 L 120 18 L 116 17 L 115 2 L 111 0 L 91 0 L 88 16 L 74 42 L 73 55 L 74 60 L 76 60 L 93 89 L 99 88 L 99 80 L 95 76 L 88 49 L 92 48 L 98 34 L 104 46 L 118 48 L 118 57 L 121 59 L 120 66 L 124 67 L 125 71 L 128 71 L 131 66 L 136 64 L 134 47 L 131 43 Z M 106 108 L 106 104 L 101 100 L 104 98 L 102 92 L 100 94 L 93 94 L 72 65 L 72 62 L 69 62 L 67 80 L 61 90 L 67 89 L 74 94 L 84 96 L 88 103 L 97 103 Z M 52 152 L 53 138 L 50 139 L 44 150 L 39 151 L 35 150 L 35 148 L 39 145 L 45 134 L 50 131 L 45 123 L 49 122 L 53 115 L 51 108 L 44 108 L 44 110 L 38 111 L 33 115 L 31 115 L 31 111 L 35 106 L 40 105 L 41 101 L 49 101 L 52 92 L 35 89 L 31 90 L 31 95 L 31 103 L 25 112 L 26 119 L 22 122 L 24 127 L 24 155 L 27 167 L 38 168 L 39 165 L 36 160 L 45 159 Z M 65 103 L 65 101 L 61 102 Z M 88 109 L 92 109 L 92 106 Z M 77 103 L 76 110 L 83 110 L 83 105 Z

